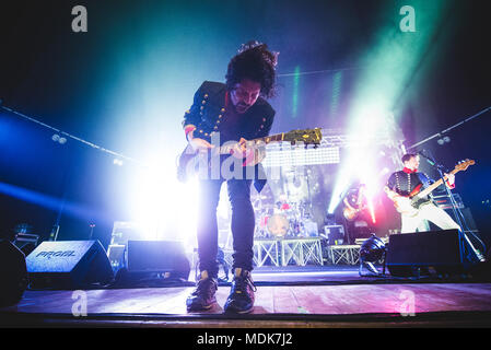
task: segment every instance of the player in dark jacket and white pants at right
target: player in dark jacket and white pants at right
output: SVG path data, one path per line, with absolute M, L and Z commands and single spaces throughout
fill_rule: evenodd
M 420 186 L 421 189 L 432 183 L 426 174 L 418 172 L 419 155 L 408 153 L 402 156 L 404 168 L 393 173 L 385 187 L 387 196 L 395 202 L 405 200 L 414 189 Z M 455 188 L 455 175 L 445 174 L 448 188 Z M 443 209 L 436 207 L 432 199 L 426 196 L 417 203 L 416 214 L 401 213 L 401 233 L 411 233 L 416 231 L 429 231 L 426 221 L 433 222 L 442 230 L 460 230 L 459 225 Z

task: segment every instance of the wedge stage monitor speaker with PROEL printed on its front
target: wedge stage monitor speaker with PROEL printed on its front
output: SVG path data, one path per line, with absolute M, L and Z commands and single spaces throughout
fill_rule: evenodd
M 89 288 L 114 279 L 98 241 L 43 242 L 26 257 L 26 264 L 33 288 Z

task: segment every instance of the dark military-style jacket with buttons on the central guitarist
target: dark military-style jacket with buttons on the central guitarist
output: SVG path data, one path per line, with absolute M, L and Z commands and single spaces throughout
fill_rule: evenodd
M 184 115 L 183 127 L 195 126 L 195 138 L 204 139 L 211 142 L 213 132 L 220 132 L 220 144 L 226 141 L 238 141 L 241 138 L 253 140 L 269 136 L 271 125 L 274 119 L 274 109 L 262 97 L 250 106 L 246 113 L 238 116 L 234 125 L 233 132 L 229 130 L 231 126 L 226 120 L 227 114 L 225 102 L 229 100 L 229 106 L 232 107 L 232 101 L 226 98 L 226 85 L 219 82 L 206 81 L 195 93 L 192 106 Z M 266 185 L 266 175 L 262 165 L 256 165 L 255 187 L 258 191 Z M 259 178 L 259 179 L 258 179 Z

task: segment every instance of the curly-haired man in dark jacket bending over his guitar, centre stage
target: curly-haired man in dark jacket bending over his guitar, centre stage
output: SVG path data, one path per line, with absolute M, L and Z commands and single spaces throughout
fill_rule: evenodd
M 274 93 L 278 54 L 269 51 L 266 44 L 249 42 L 232 58 L 226 72 L 226 83 L 206 81 L 195 94 L 191 108 L 184 116 L 184 131 L 190 147 L 208 151 L 213 145 L 211 137 L 220 132 L 220 143 L 238 141 L 233 156 L 239 164 L 248 165 L 245 142 L 269 135 L 274 110 L 266 101 Z M 242 161 L 243 160 L 243 161 Z M 235 162 L 234 162 L 235 163 Z M 260 166 L 256 165 L 256 167 Z M 245 166 L 244 166 L 245 167 Z M 255 218 L 250 202 L 249 178 L 200 178 L 198 201 L 198 260 L 200 279 L 196 290 L 186 301 L 188 312 L 209 310 L 215 304 L 218 289 L 218 225 L 217 207 L 222 184 L 227 183 L 232 205 L 233 282 L 225 302 L 227 313 L 249 313 L 253 310 L 255 285 L 253 245 Z M 255 179 L 258 191 L 265 182 Z

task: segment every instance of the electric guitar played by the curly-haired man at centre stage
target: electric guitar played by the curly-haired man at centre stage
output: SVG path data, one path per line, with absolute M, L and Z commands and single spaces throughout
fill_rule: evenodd
M 246 149 L 253 149 L 257 151 L 257 148 L 264 147 L 271 142 L 290 142 L 292 145 L 296 142 L 303 142 L 306 145 L 314 144 L 317 147 L 320 144 L 323 136 L 319 128 L 306 129 L 306 130 L 292 130 L 290 132 L 282 132 L 264 138 L 258 138 L 245 142 Z M 224 145 L 213 148 L 208 151 L 209 160 L 214 155 L 231 155 L 236 143 L 227 142 Z M 182 183 L 186 183 L 190 176 L 198 172 L 199 161 L 197 155 L 199 152 L 194 151 L 191 145 L 188 144 L 177 160 L 177 179 Z M 256 165 L 261 161 L 260 158 L 255 156 L 253 162 L 247 165 Z M 207 164 L 210 165 L 210 162 Z

